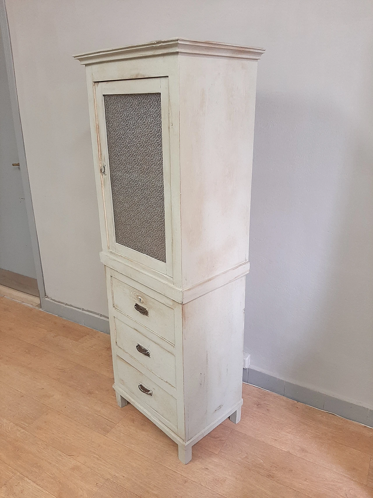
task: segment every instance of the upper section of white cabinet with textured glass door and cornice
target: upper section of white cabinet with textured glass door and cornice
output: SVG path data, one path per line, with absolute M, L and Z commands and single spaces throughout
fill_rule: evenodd
M 182 294 L 248 271 L 263 52 L 175 38 L 76 56 L 86 65 L 106 265 Z

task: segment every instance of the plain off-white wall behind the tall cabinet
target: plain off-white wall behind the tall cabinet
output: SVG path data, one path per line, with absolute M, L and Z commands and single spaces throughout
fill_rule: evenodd
M 84 67 L 183 36 L 264 46 L 245 346 L 373 408 L 373 2 L 7 0 L 47 294 L 106 312 Z

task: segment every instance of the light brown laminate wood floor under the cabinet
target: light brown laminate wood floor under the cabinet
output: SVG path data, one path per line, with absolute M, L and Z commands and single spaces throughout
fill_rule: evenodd
M 244 384 L 183 465 L 112 383 L 108 335 L 0 298 L 0 498 L 373 497 L 371 428 Z

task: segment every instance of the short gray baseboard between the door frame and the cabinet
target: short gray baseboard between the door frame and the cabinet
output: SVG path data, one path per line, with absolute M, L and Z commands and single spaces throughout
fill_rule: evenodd
M 40 301 L 41 308 L 47 313 L 66 318 L 71 322 L 85 325 L 100 332 L 105 332 L 105 334 L 110 334 L 109 319 L 107 316 L 99 315 L 83 308 L 76 308 L 75 306 L 55 301 L 50 297 L 43 297 Z

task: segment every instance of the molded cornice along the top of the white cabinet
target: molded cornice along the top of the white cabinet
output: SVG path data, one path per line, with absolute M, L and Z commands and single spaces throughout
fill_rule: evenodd
M 187 40 L 185 38 L 171 38 L 170 40 L 156 40 L 140 45 L 127 45 L 126 47 L 86 52 L 84 54 L 74 55 L 74 59 L 78 59 L 81 64 L 89 65 L 121 59 L 187 53 L 258 60 L 264 51 L 264 48 L 244 47 L 216 41 L 195 41 Z

